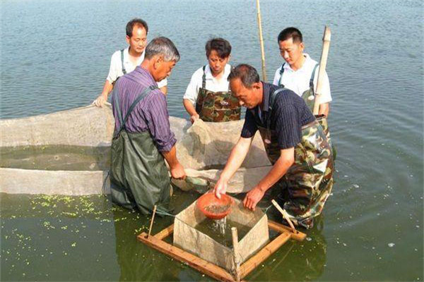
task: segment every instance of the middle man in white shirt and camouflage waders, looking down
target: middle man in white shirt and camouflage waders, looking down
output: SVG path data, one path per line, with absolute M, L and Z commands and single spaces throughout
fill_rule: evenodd
M 240 120 L 241 107 L 230 92 L 228 75 L 231 66 L 231 45 L 225 39 L 214 38 L 206 42 L 208 64 L 199 68 L 190 80 L 183 97 L 184 108 L 194 123 Z

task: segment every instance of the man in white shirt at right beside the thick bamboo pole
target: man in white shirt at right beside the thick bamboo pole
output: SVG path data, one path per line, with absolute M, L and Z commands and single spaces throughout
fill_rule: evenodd
M 285 60 L 283 66 L 277 69 L 273 85 L 281 85 L 302 97 L 306 104 L 313 109 L 314 94 L 317 90 L 319 63 L 303 53 L 305 44 L 300 30 L 287 27 L 278 35 L 278 47 Z M 329 77 L 324 73 L 322 93 L 319 97 L 319 114 L 329 115 L 331 91 Z

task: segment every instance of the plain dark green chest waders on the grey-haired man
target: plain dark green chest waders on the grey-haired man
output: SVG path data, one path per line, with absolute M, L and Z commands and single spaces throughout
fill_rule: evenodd
M 112 138 L 112 202 L 127 209 L 137 208 L 142 214 L 150 214 L 155 204 L 160 209 L 167 210 L 170 202 L 170 177 L 163 156 L 150 133 L 129 133 L 125 126 L 134 107 L 154 89 L 157 87 L 146 87 L 131 104 L 124 118 L 119 106 L 118 91 L 114 90 L 112 94 L 121 124 Z

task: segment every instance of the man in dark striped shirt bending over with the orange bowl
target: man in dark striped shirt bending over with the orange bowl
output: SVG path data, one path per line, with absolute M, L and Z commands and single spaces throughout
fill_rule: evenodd
M 321 125 L 295 92 L 259 80 L 257 71 L 242 64 L 228 76 L 240 105 L 247 107 L 240 140 L 214 188 L 225 193 L 228 180 L 241 166 L 257 130 L 273 168 L 243 201 L 255 209 L 266 190 L 285 189 L 283 208 L 298 226 L 311 228 L 333 186 L 333 155 Z

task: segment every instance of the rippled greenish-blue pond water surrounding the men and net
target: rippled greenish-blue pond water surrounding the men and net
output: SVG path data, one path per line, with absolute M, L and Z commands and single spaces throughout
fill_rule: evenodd
M 187 118 L 182 95 L 206 63 L 207 39 L 228 39 L 231 63 L 260 71 L 254 2 L 1 1 L 0 117 L 92 102 L 110 56 L 126 47 L 126 22 L 138 16 L 150 39 L 170 37 L 179 49 L 167 102 L 170 115 Z M 248 280 L 423 281 L 423 5 L 261 1 L 268 81 L 283 63 L 278 32 L 300 27 L 305 51 L 319 61 L 324 25 L 331 27 L 329 126 L 338 155 L 333 194 L 307 240 L 286 243 Z M 172 201 L 181 208 L 196 197 L 176 192 Z M 105 197 L 1 194 L 0 201 L 1 281 L 208 280 L 137 242 L 148 217 Z M 158 218 L 154 231 L 171 222 Z

